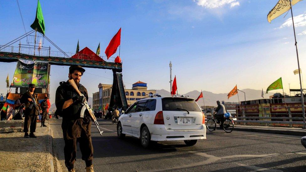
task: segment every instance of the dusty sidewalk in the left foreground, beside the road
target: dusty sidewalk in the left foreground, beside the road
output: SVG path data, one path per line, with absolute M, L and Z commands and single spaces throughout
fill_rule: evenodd
M 50 127 L 40 127 L 37 138 L 24 138 L 24 133 L 0 134 L 0 171 L 53 171 Z M 51 170 L 50 170 L 51 169 Z

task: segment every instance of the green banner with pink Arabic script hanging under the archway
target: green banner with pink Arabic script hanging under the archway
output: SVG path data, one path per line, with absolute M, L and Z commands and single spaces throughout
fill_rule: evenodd
M 25 64 L 18 61 L 11 87 L 27 88 L 29 84 L 35 84 L 36 88 L 47 88 L 48 63 Z

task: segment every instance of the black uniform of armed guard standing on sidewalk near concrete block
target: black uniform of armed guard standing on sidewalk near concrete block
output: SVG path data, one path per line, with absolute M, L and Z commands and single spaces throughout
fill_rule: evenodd
M 36 130 L 36 120 L 37 116 L 39 115 L 39 112 L 36 109 L 34 103 L 30 102 L 28 98 L 30 99 L 34 98 L 37 105 L 39 103 L 37 101 L 37 94 L 34 93 L 33 95 L 31 95 L 30 91 L 25 92 L 20 99 L 20 103 L 25 104 L 24 133 L 29 132 L 29 126 L 30 126 L 30 133 L 34 133 Z

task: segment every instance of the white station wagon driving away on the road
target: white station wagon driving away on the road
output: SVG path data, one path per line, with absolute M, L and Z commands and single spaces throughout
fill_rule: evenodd
M 119 117 L 117 135 L 140 138 L 148 147 L 151 141 L 184 140 L 188 146 L 206 139 L 205 117 L 198 104 L 187 97 L 162 97 L 141 99 Z

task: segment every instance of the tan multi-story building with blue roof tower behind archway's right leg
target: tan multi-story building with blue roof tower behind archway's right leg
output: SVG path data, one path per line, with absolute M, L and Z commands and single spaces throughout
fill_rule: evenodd
M 112 94 L 112 86 L 109 84 L 99 84 L 99 95 L 101 107 L 105 107 L 106 104 L 109 105 L 110 96 Z M 133 84 L 132 89 L 124 89 L 126 101 L 128 105 L 132 105 L 136 101 L 149 96 L 150 94 L 155 94 L 156 90 L 147 90 L 147 83 L 138 81 Z M 101 91 L 101 92 L 100 92 Z

